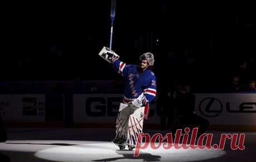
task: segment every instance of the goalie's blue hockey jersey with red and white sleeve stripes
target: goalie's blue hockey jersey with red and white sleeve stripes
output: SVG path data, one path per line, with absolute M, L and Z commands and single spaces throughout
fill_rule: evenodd
M 141 93 L 144 93 L 147 103 L 155 98 L 156 77 L 150 69 L 140 72 L 139 66 L 126 65 L 120 60 L 115 60 L 112 67 L 125 78 L 125 99 L 137 98 Z

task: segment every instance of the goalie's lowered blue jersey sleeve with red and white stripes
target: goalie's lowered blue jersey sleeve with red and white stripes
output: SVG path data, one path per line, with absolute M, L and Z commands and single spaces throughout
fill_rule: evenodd
M 146 89 L 143 90 L 146 97 L 146 103 L 149 104 L 156 97 L 156 77 L 154 73 L 151 72 L 151 77 L 149 79 L 149 84 Z

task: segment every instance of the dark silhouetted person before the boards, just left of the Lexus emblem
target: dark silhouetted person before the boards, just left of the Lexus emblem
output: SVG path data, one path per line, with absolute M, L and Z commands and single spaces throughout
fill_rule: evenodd
M 195 98 L 195 94 L 190 92 L 189 84 L 178 84 L 178 88 L 173 94 L 174 133 L 176 129 L 198 128 L 198 136 L 200 136 L 208 128 L 209 121 L 195 114 Z

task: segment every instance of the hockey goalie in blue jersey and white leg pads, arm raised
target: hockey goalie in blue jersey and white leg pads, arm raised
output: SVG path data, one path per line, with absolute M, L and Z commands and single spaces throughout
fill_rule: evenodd
M 125 64 L 119 60 L 119 55 L 106 47 L 99 55 L 125 78 L 124 99 L 120 103 L 116 136 L 112 143 L 118 145 L 120 150 L 126 145 L 132 150 L 139 133 L 142 133 L 143 120 L 148 117 L 149 103 L 156 96 L 156 77 L 149 69 L 154 65 L 154 55 L 150 52 L 142 54 L 139 65 Z

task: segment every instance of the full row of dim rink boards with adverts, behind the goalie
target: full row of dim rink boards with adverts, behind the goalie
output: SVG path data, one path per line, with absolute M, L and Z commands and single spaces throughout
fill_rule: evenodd
M 73 94 L 73 122 L 100 125 L 115 123 L 121 100 L 122 94 Z M 47 114 L 46 102 L 45 94 L 2 94 L 0 113 L 5 122 L 44 122 Z M 67 106 L 65 108 L 65 103 L 62 107 L 63 114 L 67 113 L 67 109 L 70 110 Z M 256 94 L 198 93 L 195 113 L 208 119 L 210 125 L 228 128 L 240 126 L 239 128 L 252 130 L 256 128 Z M 160 124 L 160 121 L 161 108 L 156 108 L 154 101 L 150 105 L 149 120 L 146 123 Z

